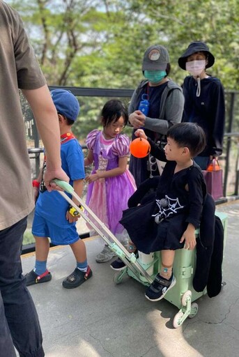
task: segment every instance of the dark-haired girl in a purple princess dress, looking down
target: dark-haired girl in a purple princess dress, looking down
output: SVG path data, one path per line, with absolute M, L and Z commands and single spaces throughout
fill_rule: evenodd
M 127 231 L 118 221 L 123 210 L 128 208 L 128 199 L 136 190 L 136 185 L 127 168 L 130 139 L 121 134 L 128 123 L 128 111 L 123 102 L 106 102 L 101 122 L 103 130 L 92 130 L 86 137 L 88 155 L 84 165 L 94 165 L 91 174 L 86 176 L 89 184 L 86 204 L 119 241 L 127 245 Z M 115 253 L 105 245 L 95 260 L 104 263 L 112 257 Z

